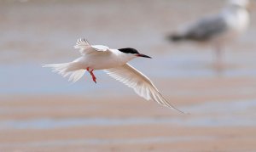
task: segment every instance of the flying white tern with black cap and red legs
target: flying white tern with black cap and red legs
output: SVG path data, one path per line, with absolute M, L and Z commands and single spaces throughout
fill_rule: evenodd
M 131 59 L 150 58 L 149 56 L 138 53 L 134 48 L 111 49 L 102 45 L 90 45 L 84 39 L 79 39 L 74 48 L 79 48 L 82 55 L 79 59 L 64 64 L 43 65 L 43 67 L 50 67 L 61 76 L 69 76 L 69 81 L 72 82 L 77 82 L 86 70 L 90 72 L 92 80 L 96 82 L 93 70 L 104 70 L 109 76 L 133 88 L 144 99 L 153 99 L 158 104 L 177 110 L 167 102 L 147 76 L 127 64 Z M 181 110 L 177 111 L 183 113 Z

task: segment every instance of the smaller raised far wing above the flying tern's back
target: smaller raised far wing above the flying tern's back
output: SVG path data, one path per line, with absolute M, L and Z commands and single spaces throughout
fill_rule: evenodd
M 102 51 L 108 51 L 109 48 L 103 45 L 90 45 L 90 43 L 85 40 L 84 38 L 78 39 L 78 42 L 74 46 L 74 48 L 79 48 L 79 52 L 82 55 L 93 53 L 93 52 L 102 52 Z

